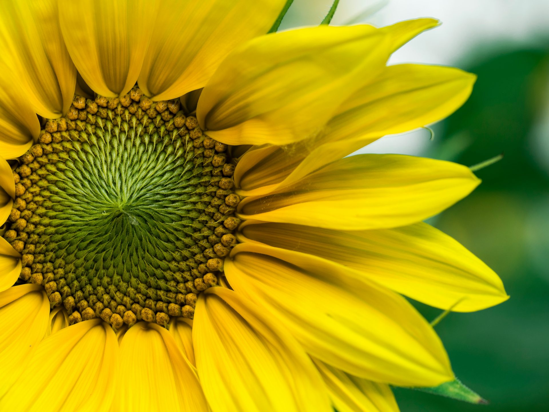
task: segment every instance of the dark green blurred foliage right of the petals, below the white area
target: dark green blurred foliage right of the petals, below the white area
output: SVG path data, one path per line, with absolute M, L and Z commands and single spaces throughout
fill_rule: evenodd
M 549 44 L 549 41 L 548 41 Z M 402 411 L 549 410 L 549 179 L 541 142 L 549 85 L 548 49 L 478 53 L 469 101 L 444 123 L 430 157 L 472 165 L 504 158 L 477 172 L 473 194 L 434 219 L 502 278 L 507 302 L 473 314 L 451 314 L 437 326 L 457 376 L 490 400 L 456 404 L 397 391 Z M 545 119 L 547 120 L 547 119 Z M 547 154 L 547 153 L 546 153 Z M 547 162 L 545 158 L 545 162 Z M 438 311 L 421 308 L 428 319 Z M 421 405 L 421 406 L 420 406 Z

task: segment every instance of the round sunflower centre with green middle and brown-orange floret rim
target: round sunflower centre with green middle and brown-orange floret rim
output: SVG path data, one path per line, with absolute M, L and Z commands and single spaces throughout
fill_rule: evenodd
M 71 322 L 193 317 L 236 243 L 234 166 L 178 101 L 75 97 L 15 169 L 4 238 Z

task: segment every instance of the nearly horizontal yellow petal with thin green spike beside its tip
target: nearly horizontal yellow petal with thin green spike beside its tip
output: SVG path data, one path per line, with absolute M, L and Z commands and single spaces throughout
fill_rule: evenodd
M 362 154 L 295 185 L 239 204 L 240 217 L 340 230 L 404 226 L 427 219 L 478 186 L 466 166 L 394 154 Z

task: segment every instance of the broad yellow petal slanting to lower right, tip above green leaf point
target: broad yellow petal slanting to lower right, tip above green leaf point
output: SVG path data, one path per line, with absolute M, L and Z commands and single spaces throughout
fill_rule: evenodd
M 404 298 L 312 255 L 241 243 L 225 261 L 234 290 L 298 338 L 307 352 L 352 375 L 400 386 L 453 378 L 433 328 Z

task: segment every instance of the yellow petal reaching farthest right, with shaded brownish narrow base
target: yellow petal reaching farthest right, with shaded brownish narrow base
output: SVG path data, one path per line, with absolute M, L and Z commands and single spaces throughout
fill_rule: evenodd
M 458 312 L 508 299 L 501 279 L 460 243 L 424 223 L 338 231 L 282 223 L 240 227 L 242 241 L 332 260 L 419 302 Z M 456 306 L 453 306 L 457 303 Z

